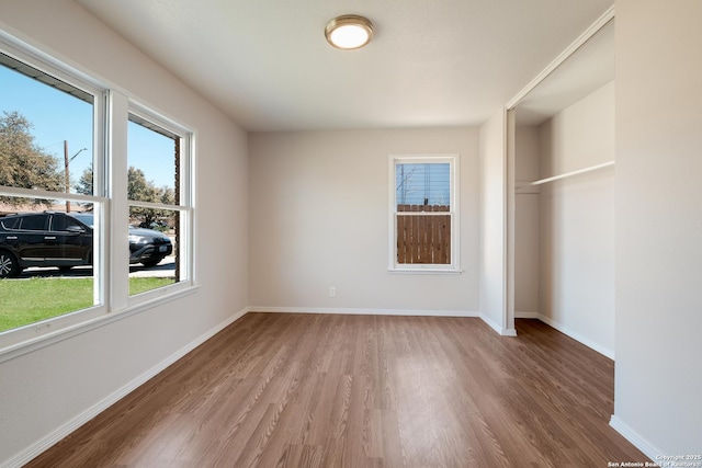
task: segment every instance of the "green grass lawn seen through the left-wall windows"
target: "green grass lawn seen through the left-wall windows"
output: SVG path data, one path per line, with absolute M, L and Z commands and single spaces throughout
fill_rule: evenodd
M 129 278 L 129 295 L 173 278 Z M 0 332 L 92 306 L 92 278 L 0 279 Z

